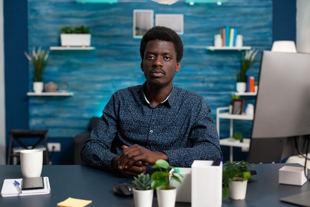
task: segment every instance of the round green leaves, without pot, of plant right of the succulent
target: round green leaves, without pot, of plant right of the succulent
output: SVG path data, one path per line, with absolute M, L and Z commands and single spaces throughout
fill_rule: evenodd
M 162 189 L 168 190 L 173 189 L 171 186 L 173 180 L 181 183 L 180 178 L 176 175 L 178 174 L 180 177 L 183 177 L 179 174 L 179 170 L 177 168 L 172 167 L 166 160 L 158 159 L 155 162 L 155 165 L 152 168 L 159 168 L 159 171 L 155 171 L 151 176 L 151 188 L 156 189 L 158 187 L 162 187 Z M 169 174 L 169 171 L 173 169 L 172 173 Z

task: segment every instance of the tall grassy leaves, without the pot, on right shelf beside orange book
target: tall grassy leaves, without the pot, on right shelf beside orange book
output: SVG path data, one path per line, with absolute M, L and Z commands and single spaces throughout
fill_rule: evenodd
M 242 53 L 241 67 L 239 73 L 237 74 L 237 82 L 247 81 L 247 71 L 252 66 L 257 53 L 258 50 L 256 49 L 247 50 L 246 52 Z

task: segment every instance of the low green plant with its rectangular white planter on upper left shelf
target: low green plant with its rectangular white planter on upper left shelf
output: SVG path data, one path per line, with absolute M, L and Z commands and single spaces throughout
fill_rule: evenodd
M 60 29 L 61 46 L 81 46 L 91 45 L 91 34 L 88 27 L 82 26 L 65 26 Z

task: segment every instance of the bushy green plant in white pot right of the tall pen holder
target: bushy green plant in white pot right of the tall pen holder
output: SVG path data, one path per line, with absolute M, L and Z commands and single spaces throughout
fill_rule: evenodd
M 229 187 L 231 199 L 244 200 L 246 198 L 248 179 L 252 177 L 248 167 L 254 166 L 245 161 L 225 162 L 223 170 L 223 198 L 228 196 L 227 187 Z

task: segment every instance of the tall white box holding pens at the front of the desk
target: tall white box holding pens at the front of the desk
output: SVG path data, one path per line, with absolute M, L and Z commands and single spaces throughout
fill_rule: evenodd
M 223 163 L 213 166 L 210 160 L 192 164 L 192 207 L 222 206 Z

